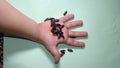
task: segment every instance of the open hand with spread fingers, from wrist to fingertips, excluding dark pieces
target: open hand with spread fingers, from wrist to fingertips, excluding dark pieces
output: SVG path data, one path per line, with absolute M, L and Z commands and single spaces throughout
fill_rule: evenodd
M 62 29 L 63 32 L 63 38 L 58 39 L 57 36 L 54 36 L 51 32 L 51 23 L 50 20 L 45 21 L 43 23 L 39 24 L 39 35 L 40 35 L 40 43 L 42 43 L 47 50 L 52 54 L 52 56 L 54 57 L 55 63 L 58 63 L 60 60 L 60 53 L 57 49 L 57 45 L 59 43 L 64 43 L 64 44 L 68 44 L 68 45 L 72 45 L 72 46 L 80 46 L 83 47 L 84 46 L 84 42 L 80 42 L 80 41 L 75 41 L 71 38 L 71 36 L 73 37 L 85 37 L 87 36 L 87 32 L 78 32 L 78 31 L 69 31 L 69 28 L 71 27 L 75 27 L 75 26 L 81 26 L 83 23 L 81 20 L 77 20 L 77 21 L 72 21 L 72 22 L 67 22 L 68 20 L 74 18 L 73 14 L 69 14 L 66 15 L 64 17 L 59 18 L 59 24 L 64 25 L 64 28 Z

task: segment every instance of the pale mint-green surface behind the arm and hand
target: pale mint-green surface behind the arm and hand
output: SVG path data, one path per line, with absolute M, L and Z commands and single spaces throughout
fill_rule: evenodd
M 46 17 L 59 18 L 67 10 L 82 19 L 84 25 L 73 30 L 87 31 L 86 47 L 72 48 L 59 64 L 40 44 L 20 38 L 5 37 L 4 68 L 120 68 L 120 0 L 8 0 L 36 22 Z M 12 16 L 11 16 L 12 17 Z M 19 17 L 18 17 L 19 18 Z M 32 29 L 32 27 L 31 27 Z

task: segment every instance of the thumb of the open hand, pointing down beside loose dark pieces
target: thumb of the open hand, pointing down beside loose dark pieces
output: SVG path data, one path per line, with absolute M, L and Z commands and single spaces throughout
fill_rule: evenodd
M 57 47 L 55 47 L 55 46 L 54 47 L 47 47 L 47 49 L 54 57 L 55 64 L 58 64 L 58 62 L 60 60 L 60 53 L 59 53 Z

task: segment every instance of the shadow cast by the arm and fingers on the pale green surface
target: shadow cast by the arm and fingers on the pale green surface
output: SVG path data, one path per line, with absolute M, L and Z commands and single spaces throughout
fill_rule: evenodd
M 54 64 L 54 59 L 53 59 L 52 55 L 46 50 L 46 48 L 43 45 L 38 44 L 31 40 L 25 39 L 25 38 L 21 38 L 21 37 L 5 36 L 5 38 L 7 38 L 7 39 L 4 39 L 4 41 L 7 43 L 4 42 L 4 44 L 5 44 L 4 45 L 4 51 L 5 51 L 4 56 L 9 57 L 9 56 L 11 56 L 13 54 L 17 54 L 19 52 L 24 52 L 24 51 L 31 50 L 34 48 L 40 48 L 41 50 L 43 50 L 45 55 L 50 59 L 54 68 L 60 68 L 60 63 Z M 76 39 L 79 40 L 79 39 L 87 39 L 87 38 L 76 38 Z M 66 49 L 66 48 L 80 49 L 78 47 L 73 47 L 73 46 L 69 46 L 69 45 L 65 45 L 65 44 L 60 44 L 58 46 L 58 49 Z M 81 49 L 84 49 L 84 48 L 81 48 Z

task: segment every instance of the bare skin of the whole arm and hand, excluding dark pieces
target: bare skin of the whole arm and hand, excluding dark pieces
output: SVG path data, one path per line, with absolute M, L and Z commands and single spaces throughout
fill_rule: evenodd
M 27 38 L 43 44 L 54 57 L 56 64 L 60 60 L 60 53 L 57 49 L 58 44 L 64 43 L 77 47 L 85 46 L 84 42 L 75 41 L 70 38 L 70 36 L 86 37 L 88 35 L 86 31 L 79 32 L 69 30 L 72 27 L 81 26 L 83 24 L 82 20 L 68 22 L 73 18 L 74 14 L 68 14 L 59 18 L 60 21 L 58 23 L 64 25 L 62 31 L 65 38 L 58 39 L 57 36 L 54 36 L 51 33 L 52 27 L 50 26 L 50 20 L 37 24 L 35 21 L 11 6 L 6 0 L 0 0 L 0 32 Z

